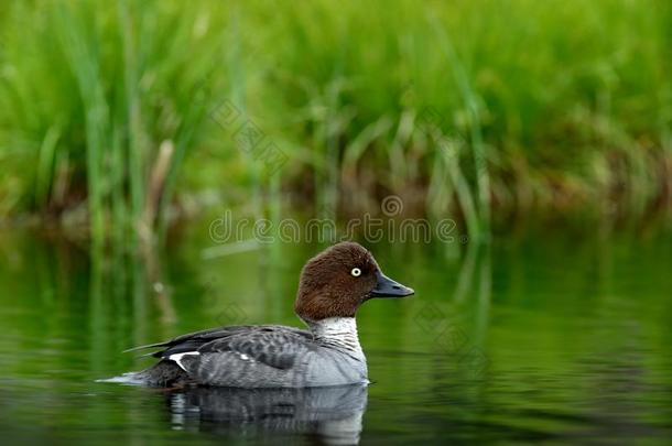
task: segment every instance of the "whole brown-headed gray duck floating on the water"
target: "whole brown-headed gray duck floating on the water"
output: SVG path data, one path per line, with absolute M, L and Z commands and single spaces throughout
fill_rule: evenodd
M 322 388 L 368 383 L 356 314 L 372 298 L 413 289 L 384 275 L 369 250 L 334 244 L 301 270 L 294 312 L 307 326 L 238 325 L 206 329 L 127 351 L 154 349 L 159 361 L 124 374 L 151 387 Z

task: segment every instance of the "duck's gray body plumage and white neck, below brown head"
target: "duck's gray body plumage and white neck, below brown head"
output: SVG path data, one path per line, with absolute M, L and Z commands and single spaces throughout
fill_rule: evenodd
M 150 385 L 194 382 L 235 388 L 310 388 L 366 383 L 367 366 L 354 318 L 301 330 L 279 325 L 231 326 L 177 337 L 136 373 Z

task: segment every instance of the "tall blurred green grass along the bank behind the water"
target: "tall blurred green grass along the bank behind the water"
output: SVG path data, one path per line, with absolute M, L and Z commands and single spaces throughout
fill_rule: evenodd
M 99 242 L 203 192 L 257 215 L 397 194 L 474 236 L 671 202 L 663 1 L 10 1 L 0 21 L 0 214 L 85 214 Z M 210 118 L 226 100 L 235 126 Z M 247 119 L 278 172 L 235 141 Z

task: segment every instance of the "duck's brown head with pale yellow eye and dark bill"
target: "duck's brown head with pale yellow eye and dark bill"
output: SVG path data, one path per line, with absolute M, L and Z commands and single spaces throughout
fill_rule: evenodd
M 303 266 L 294 309 L 306 322 L 355 317 L 359 305 L 369 298 L 413 293 L 387 278 L 364 247 L 346 241 L 322 251 Z

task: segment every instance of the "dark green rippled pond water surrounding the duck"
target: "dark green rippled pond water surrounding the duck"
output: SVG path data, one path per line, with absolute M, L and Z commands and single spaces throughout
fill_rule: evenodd
M 204 259 L 212 246 L 207 225 L 195 224 L 152 261 L 93 262 L 59 239 L 0 236 L 2 443 L 672 437 L 669 236 L 530 232 L 462 257 L 437 244 L 369 246 L 416 295 L 360 311 L 373 381 L 366 391 L 180 393 L 96 382 L 149 365 L 121 353 L 134 345 L 224 324 L 300 325 L 297 274 L 319 247 Z

